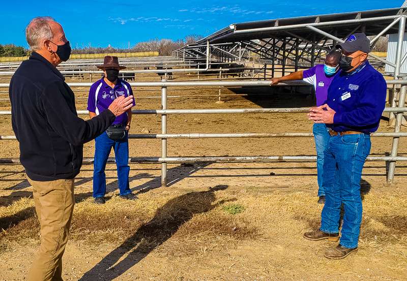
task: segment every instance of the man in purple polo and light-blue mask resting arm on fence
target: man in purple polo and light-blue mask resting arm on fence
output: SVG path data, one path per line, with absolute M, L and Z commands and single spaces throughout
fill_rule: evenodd
M 328 88 L 332 79 L 339 70 L 339 60 L 341 52 L 334 50 L 325 58 L 324 65 L 316 65 L 308 70 L 293 72 L 289 75 L 272 78 L 271 84 L 278 84 L 288 80 L 304 80 L 312 84 L 315 88 L 316 106 L 321 106 L 327 100 Z M 318 203 L 325 203 L 325 191 L 323 186 L 323 166 L 324 166 L 324 150 L 328 145 L 329 133 L 327 127 L 323 123 L 314 123 L 312 132 L 315 139 L 316 148 L 316 170 L 318 181 Z

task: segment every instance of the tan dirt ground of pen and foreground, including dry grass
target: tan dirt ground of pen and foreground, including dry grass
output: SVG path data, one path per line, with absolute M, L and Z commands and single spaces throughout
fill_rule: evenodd
M 160 96 L 159 89 L 133 90 L 136 109 L 160 108 L 159 99 L 146 98 Z M 168 88 L 168 96 L 184 96 L 169 98 L 168 108 L 313 104 L 309 97 L 271 90 L 251 89 L 261 95 L 250 97 L 235 92 L 222 89 L 231 96 L 217 104 L 214 96 L 197 96 L 217 95 L 218 88 Z M 78 109 L 85 109 L 86 96 L 76 90 Z M 7 101 L 0 107 L 10 109 Z M 160 133 L 160 126 L 160 116 L 137 115 L 130 133 Z M 168 116 L 168 133 L 310 132 L 311 127 L 303 113 Z M 13 134 L 10 116 L 2 116 L 0 128 L 2 135 Z M 392 129 L 383 120 L 379 131 Z M 314 150 L 311 138 L 168 140 L 169 156 L 313 155 Z M 372 138 L 371 154 L 390 150 L 391 138 Z M 90 142 L 84 154 L 93 153 Z M 1 158 L 18 154 L 16 141 L 2 141 Z M 403 139 L 399 154 L 407 154 Z M 130 155 L 157 157 L 160 141 L 132 139 Z M 323 257 L 335 243 L 302 238 L 318 227 L 322 210 L 316 204 L 315 166 L 304 161 L 170 164 L 169 186 L 161 188 L 159 165 L 131 164 L 130 187 L 138 200 L 127 202 L 117 196 L 115 166 L 108 164 L 109 200 L 98 206 L 92 199 L 93 166 L 84 165 L 75 180 L 77 204 L 64 255 L 64 280 L 406 280 L 407 164 L 397 163 L 389 185 L 386 163 L 366 163 L 359 252 L 340 261 Z M 39 245 L 39 224 L 20 165 L 0 166 L 0 230 L 0 280 L 24 280 Z

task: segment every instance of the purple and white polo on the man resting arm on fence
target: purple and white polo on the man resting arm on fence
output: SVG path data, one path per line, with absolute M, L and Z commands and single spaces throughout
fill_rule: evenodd
M 336 74 L 328 77 L 325 74 L 324 65 L 316 65 L 308 70 L 304 70 L 303 80 L 312 84 L 315 88 L 316 106 L 323 105 L 327 100 L 329 85 Z

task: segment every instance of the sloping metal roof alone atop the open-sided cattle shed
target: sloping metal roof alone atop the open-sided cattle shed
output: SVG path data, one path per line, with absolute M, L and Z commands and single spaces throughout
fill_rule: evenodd
M 373 36 L 379 34 L 394 19 L 405 15 L 406 12 L 405 8 L 394 8 L 234 23 L 199 40 L 197 44 L 207 40 L 211 44 L 216 44 L 271 37 L 285 38 L 292 34 L 313 40 L 314 33 L 310 32 L 308 26 L 317 27 L 339 38 L 346 38 L 358 30 L 366 33 L 367 36 Z M 397 31 L 397 26 L 392 26 L 387 34 L 397 33 Z M 323 37 L 317 34 L 315 40 L 321 40 Z

